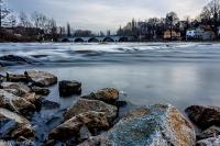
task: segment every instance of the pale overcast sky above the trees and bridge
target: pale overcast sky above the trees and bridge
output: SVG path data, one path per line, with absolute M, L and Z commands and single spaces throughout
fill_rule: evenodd
M 59 25 L 69 22 L 74 29 L 114 31 L 132 18 L 146 20 L 175 11 L 179 18 L 200 13 L 208 0 L 8 0 L 14 11 L 38 11 L 56 19 Z

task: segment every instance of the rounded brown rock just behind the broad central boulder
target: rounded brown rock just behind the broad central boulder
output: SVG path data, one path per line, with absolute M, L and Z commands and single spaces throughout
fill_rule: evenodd
M 119 99 L 119 90 L 114 88 L 105 88 L 88 96 L 82 97 L 90 100 L 101 100 L 106 103 L 114 103 Z

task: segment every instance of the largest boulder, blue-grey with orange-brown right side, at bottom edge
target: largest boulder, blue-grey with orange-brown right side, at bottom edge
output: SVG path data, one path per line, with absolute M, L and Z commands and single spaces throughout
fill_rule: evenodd
M 138 109 L 109 132 L 91 137 L 80 146 L 193 146 L 193 125 L 172 105 Z

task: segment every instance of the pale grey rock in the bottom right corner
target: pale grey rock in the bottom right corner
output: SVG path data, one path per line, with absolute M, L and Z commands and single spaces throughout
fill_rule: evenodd
M 196 146 L 220 146 L 220 136 L 198 141 Z

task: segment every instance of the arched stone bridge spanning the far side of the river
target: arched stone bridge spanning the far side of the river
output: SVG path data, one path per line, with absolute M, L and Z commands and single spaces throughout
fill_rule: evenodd
M 94 37 L 63 37 L 59 42 L 75 43 L 103 43 L 103 42 L 131 42 L 133 36 L 94 36 Z

